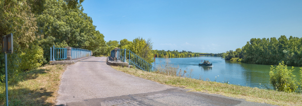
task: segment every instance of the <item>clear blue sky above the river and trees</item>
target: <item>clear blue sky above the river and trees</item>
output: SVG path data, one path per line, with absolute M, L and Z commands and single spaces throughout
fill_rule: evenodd
M 105 41 L 150 38 L 158 50 L 221 53 L 251 38 L 302 37 L 300 0 L 86 0 L 82 6 Z

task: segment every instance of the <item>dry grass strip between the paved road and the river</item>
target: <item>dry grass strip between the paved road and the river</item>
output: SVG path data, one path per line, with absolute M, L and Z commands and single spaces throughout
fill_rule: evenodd
M 302 105 L 302 94 L 298 93 L 286 93 L 275 90 L 202 81 L 178 76 L 169 76 L 158 73 L 145 72 L 133 68 L 123 68 L 116 66 L 111 67 L 130 75 L 152 80 L 161 84 L 191 89 L 191 91 L 215 93 L 229 97 L 244 98 L 247 101 L 266 102 L 276 105 Z

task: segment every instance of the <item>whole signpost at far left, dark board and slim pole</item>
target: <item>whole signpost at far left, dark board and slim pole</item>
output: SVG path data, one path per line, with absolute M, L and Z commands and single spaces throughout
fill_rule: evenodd
M 8 34 L 2 37 L 2 52 L 5 53 L 5 87 L 6 87 L 6 105 L 9 105 L 9 89 L 8 89 L 8 72 L 7 72 L 7 54 L 13 54 L 13 34 Z

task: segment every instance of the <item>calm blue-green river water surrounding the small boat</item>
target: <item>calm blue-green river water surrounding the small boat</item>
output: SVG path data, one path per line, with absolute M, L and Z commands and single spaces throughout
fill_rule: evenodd
M 181 70 L 193 69 L 192 74 L 196 79 L 210 80 L 216 82 L 228 82 L 229 84 L 272 88 L 270 84 L 271 65 L 245 64 L 240 62 L 225 61 L 220 57 L 189 57 L 189 58 L 168 58 L 170 64 L 179 66 Z M 207 60 L 212 66 L 199 66 L 199 62 Z M 153 65 L 156 67 L 163 64 L 165 58 L 156 58 Z M 290 69 L 291 67 L 288 67 Z M 293 75 L 299 80 L 299 67 L 294 67 Z M 188 74 L 189 71 L 187 71 Z

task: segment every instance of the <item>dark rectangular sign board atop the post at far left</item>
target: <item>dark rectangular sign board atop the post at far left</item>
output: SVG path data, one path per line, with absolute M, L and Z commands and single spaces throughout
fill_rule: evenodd
M 2 37 L 2 52 L 13 54 L 14 52 L 13 33 Z

